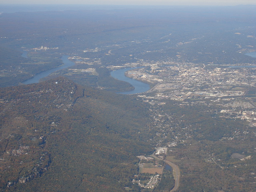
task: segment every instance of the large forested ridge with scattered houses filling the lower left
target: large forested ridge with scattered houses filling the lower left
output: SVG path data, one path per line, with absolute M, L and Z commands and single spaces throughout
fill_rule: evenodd
M 133 96 L 57 78 L 1 88 L 0 101 L 2 191 L 124 191 L 153 151 Z

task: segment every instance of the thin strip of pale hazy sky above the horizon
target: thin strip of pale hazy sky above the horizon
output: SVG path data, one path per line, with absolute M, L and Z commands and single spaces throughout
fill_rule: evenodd
M 0 4 L 256 5 L 256 0 L 0 0 Z

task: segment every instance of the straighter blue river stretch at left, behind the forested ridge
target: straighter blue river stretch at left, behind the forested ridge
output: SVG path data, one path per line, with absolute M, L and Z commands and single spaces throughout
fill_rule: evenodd
M 56 68 L 52 68 L 47 71 L 43 71 L 41 73 L 38 73 L 34 77 L 32 77 L 22 83 L 24 83 L 24 84 L 38 83 L 41 78 L 47 77 L 48 75 L 50 75 L 51 73 L 53 73 L 55 71 L 58 71 L 58 70 L 61 70 L 61 69 L 67 68 L 67 67 L 71 67 L 74 65 L 74 62 L 68 60 L 68 55 L 63 55 L 61 57 L 61 60 L 64 63 L 64 65 L 58 66 Z

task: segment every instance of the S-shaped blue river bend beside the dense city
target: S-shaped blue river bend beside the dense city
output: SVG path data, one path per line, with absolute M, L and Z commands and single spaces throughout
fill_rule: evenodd
M 135 68 L 124 68 L 124 69 L 118 69 L 118 70 L 114 70 L 114 71 L 110 72 L 112 77 L 114 77 L 118 80 L 126 81 L 126 82 L 132 84 L 132 86 L 134 86 L 134 90 L 126 91 L 126 92 L 118 92 L 118 93 L 120 93 L 120 94 L 136 94 L 136 93 L 146 92 L 150 89 L 149 84 L 137 81 L 135 79 L 126 77 L 124 75 L 126 71 L 129 71 L 132 69 L 135 69 Z

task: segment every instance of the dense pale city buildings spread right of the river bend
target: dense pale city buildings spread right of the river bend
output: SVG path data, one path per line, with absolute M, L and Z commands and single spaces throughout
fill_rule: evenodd
M 188 98 L 224 98 L 243 96 L 246 87 L 256 85 L 256 70 L 243 66 L 227 68 L 208 67 L 204 64 L 152 65 L 134 69 L 126 76 L 156 84 L 149 92 L 157 92 L 156 99 L 184 100 Z M 234 88 L 232 87 L 244 87 Z

